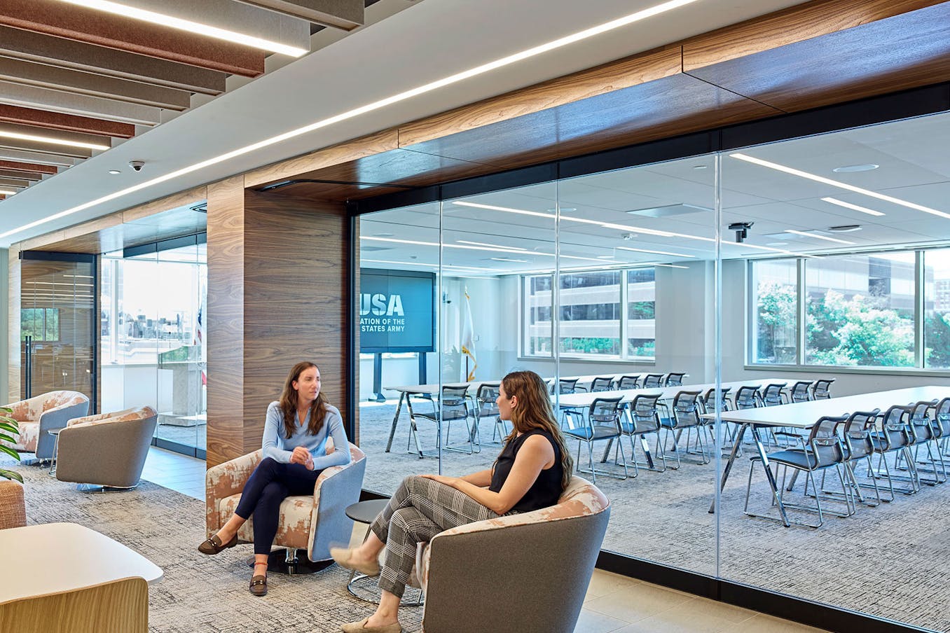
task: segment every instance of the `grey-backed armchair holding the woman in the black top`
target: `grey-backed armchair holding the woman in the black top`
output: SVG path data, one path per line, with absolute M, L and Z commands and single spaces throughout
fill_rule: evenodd
M 607 497 L 574 476 L 557 505 L 420 544 L 426 633 L 573 631 L 609 518 Z

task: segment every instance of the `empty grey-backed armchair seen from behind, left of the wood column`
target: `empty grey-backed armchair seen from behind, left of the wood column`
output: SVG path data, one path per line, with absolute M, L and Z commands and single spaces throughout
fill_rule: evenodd
M 158 415 L 142 406 L 70 419 L 60 431 L 56 478 L 81 490 L 139 485 Z

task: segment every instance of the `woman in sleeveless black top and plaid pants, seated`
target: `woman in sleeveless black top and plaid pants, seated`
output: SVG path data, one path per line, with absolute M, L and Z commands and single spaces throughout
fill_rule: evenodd
M 386 510 L 355 549 L 333 548 L 346 568 L 379 575 L 382 598 L 367 619 L 343 624 L 345 633 L 400 633 L 399 601 L 415 563 L 416 544 L 440 531 L 514 512 L 531 512 L 558 502 L 574 469 L 564 445 L 547 385 L 533 371 L 502 380 L 499 415 L 514 427 L 494 467 L 464 477 L 416 475 L 403 480 Z M 386 561 L 379 567 L 379 553 Z

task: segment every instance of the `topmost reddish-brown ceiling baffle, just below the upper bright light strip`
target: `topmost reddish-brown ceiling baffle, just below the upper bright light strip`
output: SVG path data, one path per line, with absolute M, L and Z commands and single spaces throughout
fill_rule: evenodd
M 4 0 L 0 25 L 244 77 L 264 73 L 262 50 L 56 0 Z

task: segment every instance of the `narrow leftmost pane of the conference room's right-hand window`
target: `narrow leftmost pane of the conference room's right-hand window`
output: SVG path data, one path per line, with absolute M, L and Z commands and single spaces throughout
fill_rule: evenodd
M 798 354 L 798 262 L 752 266 L 752 358 L 755 363 L 795 363 Z

